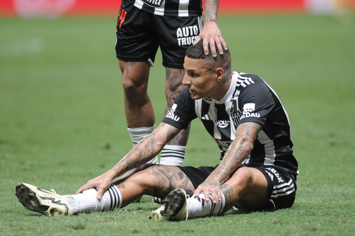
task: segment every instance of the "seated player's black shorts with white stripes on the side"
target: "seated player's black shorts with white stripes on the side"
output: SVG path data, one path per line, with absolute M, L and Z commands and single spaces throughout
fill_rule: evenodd
M 196 189 L 217 166 L 178 167 L 189 177 L 193 187 Z M 287 169 L 278 166 L 257 166 L 252 168 L 260 170 L 267 180 L 269 188 L 268 199 L 271 202 L 270 208 L 267 210 L 288 208 L 293 205 L 297 186 L 294 176 L 290 175 Z M 235 206 L 234 209 L 239 209 L 239 207 Z

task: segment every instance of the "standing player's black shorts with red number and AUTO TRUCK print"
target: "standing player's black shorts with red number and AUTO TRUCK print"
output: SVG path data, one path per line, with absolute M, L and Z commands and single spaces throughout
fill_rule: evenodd
M 160 46 L 164 67 L 184 69 L 185 51 L 195 42 L 202 27 L 201 16 L 158 16 L 122 1 L 116 56 L 122 61 L 149 61 L 153 66 Z

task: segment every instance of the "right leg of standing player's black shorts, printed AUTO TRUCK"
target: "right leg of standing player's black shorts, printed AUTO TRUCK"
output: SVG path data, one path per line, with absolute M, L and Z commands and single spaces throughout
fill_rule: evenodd
M 154 16 L 164 67 L 184 69 L 186 49 L 195 42 L 203 23 L 200 16 Z

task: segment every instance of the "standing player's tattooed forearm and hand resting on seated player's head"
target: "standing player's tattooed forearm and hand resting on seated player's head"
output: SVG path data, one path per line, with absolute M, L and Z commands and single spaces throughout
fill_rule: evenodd
M 195 45 L 201 39 L 203 40 L 204 53 L 208 55 L 208 43 L 211 48 L 213 57 L 216 57 L 214 43 L 216 43 L 219 54 L 223 54 L 222 46 L 227 50 L 227 45 L 222 38 L 221 32 L 217 26 L 219 0 L 206 0 L 204 3 L 204 23 L 203 29 L 196 39 Z

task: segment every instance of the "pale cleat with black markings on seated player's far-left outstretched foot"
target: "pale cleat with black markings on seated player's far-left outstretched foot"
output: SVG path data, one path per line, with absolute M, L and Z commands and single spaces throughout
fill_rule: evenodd
M 16 197 L 30 211 L 44 215 L 72 215 L 73 209 L 66 202 L 64 197 L 51 189 L 51 191 L 40 189 L 26 183 L 16 185 Z

